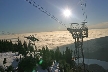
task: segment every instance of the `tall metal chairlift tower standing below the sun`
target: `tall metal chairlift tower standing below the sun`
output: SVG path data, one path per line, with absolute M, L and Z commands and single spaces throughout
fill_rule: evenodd
M 67 30 L 72 34 L 73 39 L 75 39 L 75 51 L 74 58 L 78 60 L 79 66 L 79 58 L 83 58 L 82 67 L 85 72 L 85 64 L 84 64 L 84 54 L 83 54 L 83 38 L 88 37 L 88 27 L 85 25 L 87 22 L 82 22 L 82 24 L 71 23 L 70 28 Z

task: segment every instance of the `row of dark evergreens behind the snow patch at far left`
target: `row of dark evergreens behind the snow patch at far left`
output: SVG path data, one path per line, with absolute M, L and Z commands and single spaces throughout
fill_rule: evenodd
M 11 40 L 0 40 L 0 52 L 19 52 L 19 54 L 25 55 L 27 51 L 34 51 L 33 46 L 26 41 L 23 43 L 19 40 L 17 43 L 12 43 Z

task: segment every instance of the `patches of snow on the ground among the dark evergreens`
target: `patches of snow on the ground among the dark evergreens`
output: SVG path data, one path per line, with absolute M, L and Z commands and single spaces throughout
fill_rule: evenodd
M 16 57 L 19 59 L 20 56 L 18 56 L 18 53 L 12 53 L 12 52 L 5 52 L 5 53 L 0 53 L 0 66 L 3 66 L 4 68 L 6 68 L 6 66 L 10 66 L 12 65 L 14 68 L 18 67 L 18 62 L 16 61 Z M 6 64 L 3 65 L 3 60 L 4 58 L 6 58 Z M 53 62 L 53 65 L 50 67 L 50 71 L 51 72 L 59 72 L 59 70 L 57 69 L 59 66 L 59 63 L 57 63 L 56 61 Z M 37 72 L 48 72 L 46 69 L 42 70 L 40 66 L 37 67 Z

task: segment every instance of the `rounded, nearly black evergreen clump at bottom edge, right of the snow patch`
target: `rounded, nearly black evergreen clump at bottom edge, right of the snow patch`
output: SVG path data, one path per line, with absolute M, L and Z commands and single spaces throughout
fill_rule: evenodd
M 18 72 L 32 72 L 36 66 L 37 60 L 32 56 L 22 58 L 18 64 Z

